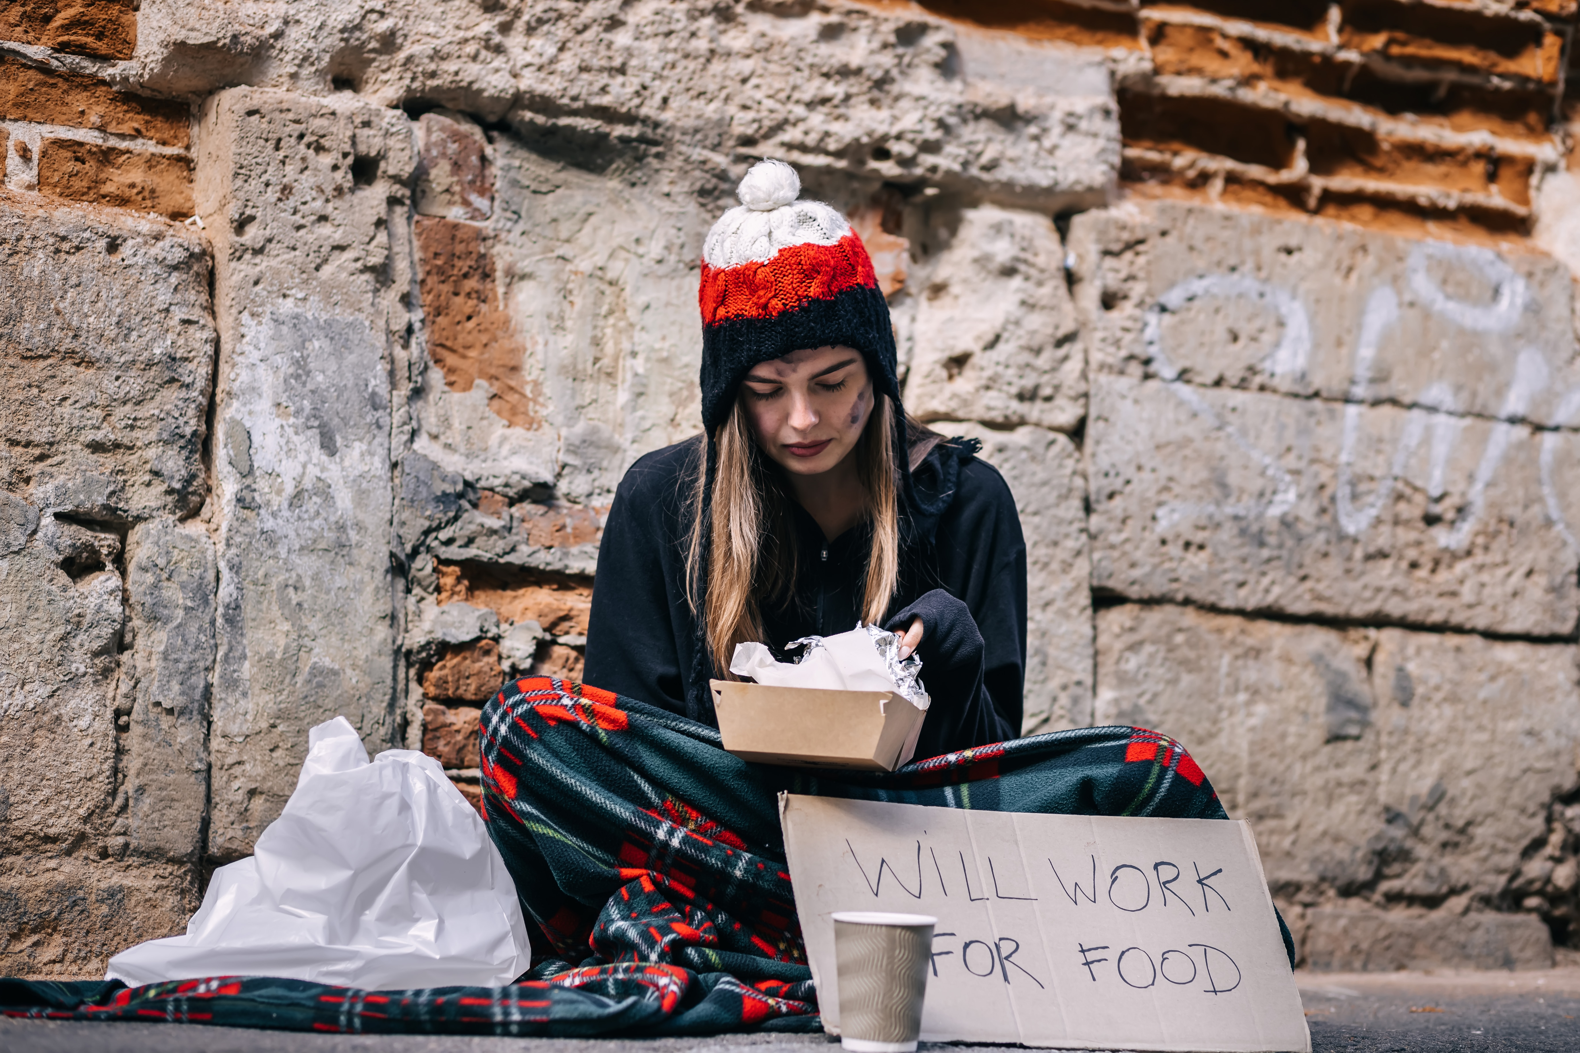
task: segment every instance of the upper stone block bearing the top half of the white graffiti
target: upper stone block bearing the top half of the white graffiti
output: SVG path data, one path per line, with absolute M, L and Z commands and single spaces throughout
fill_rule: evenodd
M 1070 249 L 1093 373 L 1580 422 L 1548 256 L 1180 202 L 1082 213 Z

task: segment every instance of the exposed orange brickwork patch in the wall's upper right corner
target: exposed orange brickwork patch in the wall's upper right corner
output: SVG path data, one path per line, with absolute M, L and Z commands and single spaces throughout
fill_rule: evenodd
M 912 6 L 1111 49 L 1133 193 L 1510 235 L 1567 145 L 1553 123 L 1574 0 Z

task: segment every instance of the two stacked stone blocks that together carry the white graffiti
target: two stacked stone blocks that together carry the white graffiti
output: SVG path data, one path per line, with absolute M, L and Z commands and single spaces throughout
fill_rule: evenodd
M 1558 264 L 1171 202 L 1078 216 L 1071 253 L 1093 587 L 1574 631 Z

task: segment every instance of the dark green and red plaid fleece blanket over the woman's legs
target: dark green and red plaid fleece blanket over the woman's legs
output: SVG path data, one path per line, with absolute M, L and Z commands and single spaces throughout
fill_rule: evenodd
M 1141 728 L 978 747 L 893 774 L 747 764 L 714 728 L 548 677 L 483 710 L 483 807 L 534 933 L 504 988 L 0 979 L 8 1017 L 340 1032 L 716 1034 L 818 1028 L 777 793 L 995 811 L 1221 819 L 1201 767 Z M 1285 931 L 1285 946 L 1292 942 Z

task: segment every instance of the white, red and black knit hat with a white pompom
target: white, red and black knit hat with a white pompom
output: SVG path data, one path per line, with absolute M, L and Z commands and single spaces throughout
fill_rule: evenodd
M 736 189 L 741 204 L 703 243 L 697 300 L 709 436 L 752 366 L 804 347 L 860 350 L 874 388 L 899 410 L 894 328 L 867 249 L 842 215 L 799 194 L 793 167 L 758 161 Z

